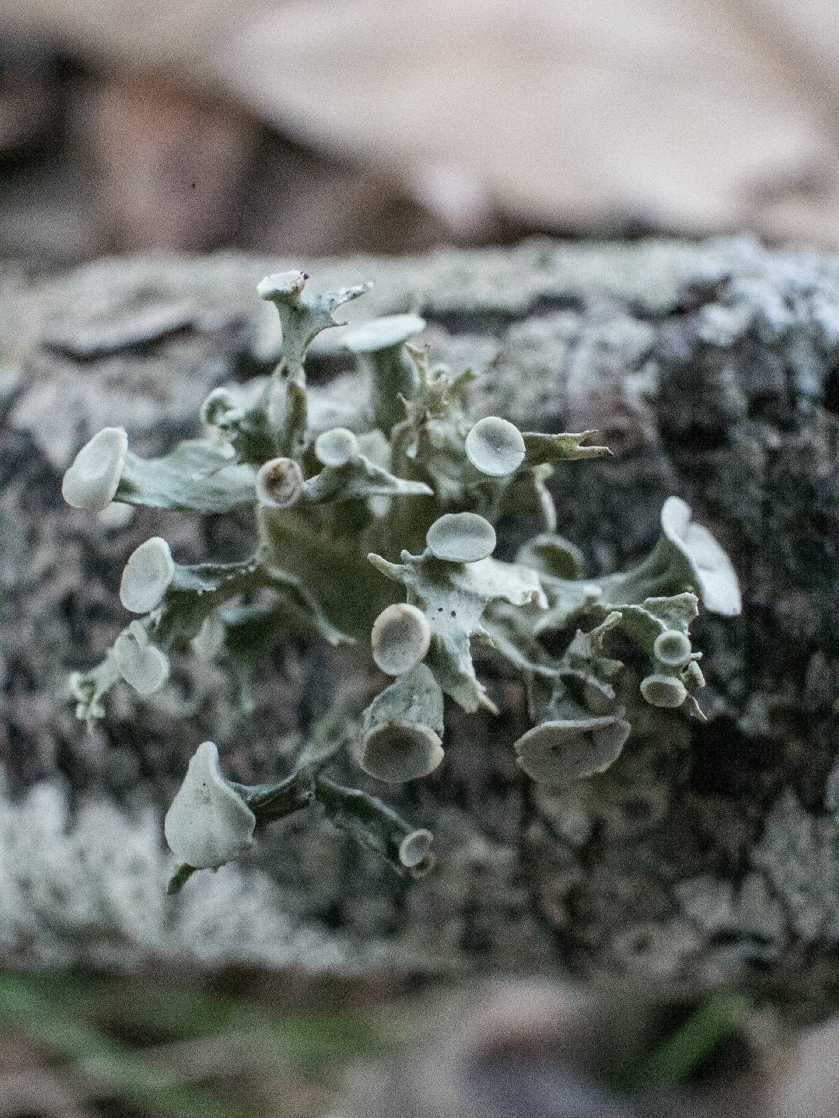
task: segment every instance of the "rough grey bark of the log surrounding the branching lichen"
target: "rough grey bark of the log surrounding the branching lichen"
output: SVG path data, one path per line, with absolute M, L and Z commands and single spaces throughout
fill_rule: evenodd
M 164 536 L 181 561 L 246 547 L 246 520 L 141 510 L 106 524 L 63 506 L 58 485 L 100 427 L 122 423 L 134 448 L 160 452 L 195 430 L 210 387 L 271 367 L 276 338 L 254 284 L 277 264 L 105 260 L 7 277 L 10 795 L 60 774 L 75 800 L 164 803 L 207 737 L 230 776 L 265 778 L 283 771 L 283 739 L 324 702 L 338 667 L 321 653 L 286 647 L 264 665 L 253 719 L 232 707 L 220 673 L 185 660 L 160 698 L 123 695 L 86 738 L 63 682 L 123 624 L 119 575 L 143 539 Z M 732 555 L 746 608 L 696 628 L 707 726 L 651 709 L 611 770 L 548 794 L 513 764 L 516 685 L 490 678 L 501 717 L 452 717 L 444 766 L 397 796 L 437 835 L 435 873 L 406 884 L 326 823 L 294 818 L 258 855 L 277 903 L 361 959 L 374 944 L 409 965 L 827 996 L 839 947 L 839 260 L 751 241 L 537 241 L 307 269 L 323 286 L 375 280 L 353 316 L 421 306 L 435 350 L 484 370 L 478 414 L 601 430 L 614 456 L 556 476 L 559 531 L 593 571 L 642 555 L 663 499 L 679 493 Z M 345 362 L 326 335 L 313 377 Z

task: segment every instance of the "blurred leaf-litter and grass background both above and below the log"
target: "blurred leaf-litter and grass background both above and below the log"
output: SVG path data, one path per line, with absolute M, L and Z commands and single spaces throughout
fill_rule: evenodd
M 743 231 L 839 247 L 836 0 L 0 0 L 3 262 Z M 0 1118 L 839 1114 L 836 1025 L 420 987 L 7 973 Z

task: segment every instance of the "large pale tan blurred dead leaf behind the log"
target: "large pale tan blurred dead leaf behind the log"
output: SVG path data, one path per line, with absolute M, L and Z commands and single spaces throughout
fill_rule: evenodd
M 3 26 L 228 97 L 466 233 L 839 244 L 833 0 L 6 0 Z M 220 179 L 242 142 L 204 135 Z

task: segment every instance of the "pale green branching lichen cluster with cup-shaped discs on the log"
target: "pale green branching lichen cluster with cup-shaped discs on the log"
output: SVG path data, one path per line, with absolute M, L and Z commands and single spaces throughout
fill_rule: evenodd
M 466 712 L 494 711 L 475 669 L 494 655 L 527 684 L 535 724 L 511 742 L 519 766 L 562 787 L 618 758 L 644 702 L 703 718 L 690 624 L 700 599 L 739 612 L 727 557 L 676 496 L 643 562 L 585 577 L 577 549 L 556 534 L 547 481 L 557 464 L 607 448 L 590 444 L 593 432 L 538 434 L 468 417 L 471 373 L 434 367 L 411 344 L 425 328 L 416 315 L 345 334 L 369 394 L 346 401 L 336 425 L 334 409 L 307 392 L 307 349 L 366 285 L 311 294 L 307 280 L 283 273 L 260 284 L 280 315 L 283 359 L 257 397 L 216 389 L 201 406 L 204 436 L 160 458 L 138 457 L 122 428 L 106 428 L 64 479 L 68 503 L 89 511 L 251 506 L 258 532 L 239 562 L 182 566 L 159 537 L 133 552 L 120 597 L 135 617 L 98 666 L 73 679 L 88 724 L 121 681 L 141 694 L 162 688 L 169 653 L 183 645 L 228 665 L 245 702 L 249 667 L 290 634 L 358 655 L 359 671 L 282 781 L 229 781 L 216 746 L 198 747 L 166 822 L 172 889 L 241 856 L 260 826 L 313 805 L 420 877 L 433 865 L 431 833 L 329 779 L 339 751 L 384 783 L 427 776 L 444 760 L 444 697 Z M 527 542 L 501 561 L 497 529 L 503 548 L 511 524 Z M 649 660 L 640 689 L 618 659 L 628 644 Z M 383 685 L 376 669 L 392 681 Z M 373 697 L 370 679 L 379 681 Z

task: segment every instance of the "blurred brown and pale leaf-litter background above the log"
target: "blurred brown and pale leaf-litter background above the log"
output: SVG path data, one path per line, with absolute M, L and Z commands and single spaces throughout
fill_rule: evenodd
M 0 253 L 839 244 L 835 0 L 2 0 Z

